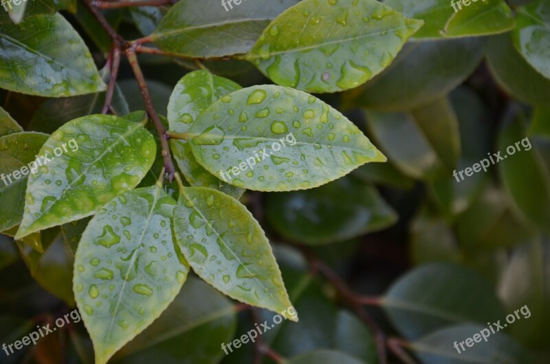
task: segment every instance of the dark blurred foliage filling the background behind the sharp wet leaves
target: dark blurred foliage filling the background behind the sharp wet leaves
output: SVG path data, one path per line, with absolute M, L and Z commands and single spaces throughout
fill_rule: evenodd
M 56 4 L 73 10 L 63 15 L 103 65 L 109 37 L 89 10 L 69 2 Z M 532 2 L 510 3 L 516 10 Z M 153 32 L 165 12 L 147 6 L 104 10 L 125 39 Z M 533 66 L 514 46 L 514 32 L 457 39 L 424 34 L 366 84 L 316 95 L 344 111 L 388 162 L 366 164 L 318 189 L 248 191 L 241 199 L 270 237 L 300 316 L 299 323 L 284 322 L 263 335 L 272 350 L 291 363 L 377 364 L 377 335 L 383 332 L 400 338 L 388 340 L 388 363 L 408 355 L 412 363 L 426 364 L 550 363 L 550 58 Z M 545 52 L 548 34 L 541 43 Z M 173 87 L 196 67 L 156 55 L 140 56 L 140 64 L 164 115 Z M 271 83 L 244 61 L 204 65 L 243 87 Z M 126 63 L 119 79 L 113 108 L 120 114 L 144 109 Z M 0 105 L 14 120 L 45 133 L 99 112 L 102 98 L 0 90 Z M 529 151 L 461 182 L 452 176 L 526 137 Z M 73 254 L 86 224 L 43 231 L 43 254 L 0 235 L 0 343 L 74 308 Z M 488 343 L 461 355 L 452 347 L 525 305 L 531 317 Z M 228 356 L 220 345 L 245 334 L 252 320 L 271 317 L 190 278 L 162 317 L 112 362 L 260 363 L 254 345 Z M 0 362 L 92 363 L 91 350 L 80 322 L 35 347 L 0 355 Z

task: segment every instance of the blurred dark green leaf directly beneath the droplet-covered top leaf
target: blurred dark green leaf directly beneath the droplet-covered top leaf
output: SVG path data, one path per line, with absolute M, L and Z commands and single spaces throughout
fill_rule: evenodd
M 470 76 L 485 55 L 485 39 L 414 42 L 390 67 L 344 96 L 344 107 L 398 111 L 448 94 Z

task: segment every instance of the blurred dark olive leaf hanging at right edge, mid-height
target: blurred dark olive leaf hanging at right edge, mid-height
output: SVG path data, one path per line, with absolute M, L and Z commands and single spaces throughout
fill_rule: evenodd
M 550 171 L 535 140 L 526 136 L 520 111 L 505 120 L 498 136 L 498 163 L 506 191 L 530 226 L 550 232 Z M 534 145 L 533 145 L 534 144 Z

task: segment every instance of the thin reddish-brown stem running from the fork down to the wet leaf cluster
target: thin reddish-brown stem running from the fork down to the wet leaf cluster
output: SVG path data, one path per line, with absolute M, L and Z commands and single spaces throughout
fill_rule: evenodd
M 174 180 L 174 173 L 176 170 L 172 162 L 172 156 L 170 156 L 170 147 L 168 146 L 166 129 L 164 129 L 164 125 L 162 125 L 162 122 L 160 122 L 159 116 L 157 115 L 157 111 L 153 105 L 153 100 L 151 100 L 151 95 L 149 94 L 149 90 L 147 89 L 147 85 L 145 83 L 142 69 L 140 68 L 140 64 L 137 63 L 137 56 L 135 56 L 133 47 L 127 47 L 126 50 L 124 50 L 124 53 L 126 54 L 126 58 L 128 58 L 130 67 L 132 67 L 135 80 L 137 81 L 137 86 L 140 87 L 140 92 L 142 93 L 147 114 L 149 114 L 153 120 L 157 133 L 159 133 L 160 145 L 162 147 L 162 158 L 164 158 L 164 168 L 166 169 L 168 180 L 172 182 Z

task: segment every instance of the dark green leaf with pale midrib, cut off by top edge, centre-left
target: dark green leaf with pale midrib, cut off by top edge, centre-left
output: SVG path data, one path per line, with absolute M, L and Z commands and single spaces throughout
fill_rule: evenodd
M 227 10 L 219 1 L 178 1 L 153 32 L 163 50 L 209 58 L 245 53 L 265 27 L 298 0 L 254 0 Z

